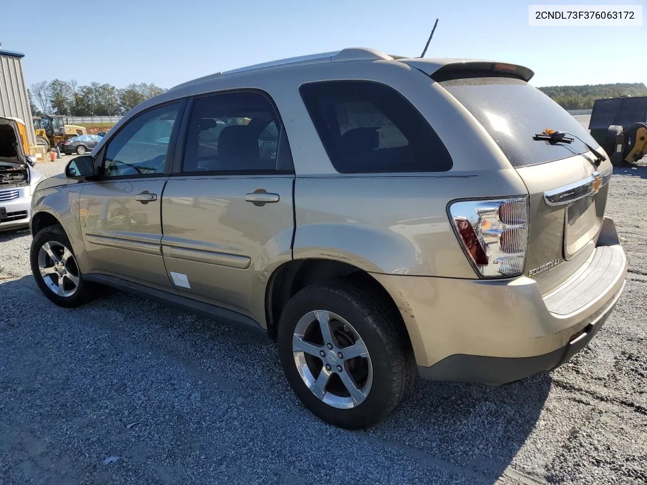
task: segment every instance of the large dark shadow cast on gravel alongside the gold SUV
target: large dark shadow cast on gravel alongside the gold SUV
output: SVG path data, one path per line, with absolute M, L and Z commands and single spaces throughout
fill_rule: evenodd
M 0 284 L 9 482 L 523 482 L 504 470 L 540 416 L 549 376 L 498 389 L 418 380 L 386 421 L 345 431 L 303 408 L 267 339 L 106 295 L 66 309 L 30 276 Z

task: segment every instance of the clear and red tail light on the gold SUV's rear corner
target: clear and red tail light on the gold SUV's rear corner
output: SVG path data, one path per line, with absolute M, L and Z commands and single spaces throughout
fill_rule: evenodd
M 528 248 L 527 197 L 463 200 L 449 208 L 459 241 L 481 276 L 523 273 Z

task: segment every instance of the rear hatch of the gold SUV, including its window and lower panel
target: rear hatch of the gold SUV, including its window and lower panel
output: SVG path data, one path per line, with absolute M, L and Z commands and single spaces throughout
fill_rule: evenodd
M 483 125 L 525 183 L 531 211 L 525 275 L 537 281 L 542 294 L 550 292 L 595 249 L 611 164 L 604 160 L 596 166 L 584 144 L 597 149 L 595 140 L 525 80 L 490 71 L 439 78 L 439 84 Z M 567 131 L 575 139 L 571 144 L 533 139 L 545 129 Z

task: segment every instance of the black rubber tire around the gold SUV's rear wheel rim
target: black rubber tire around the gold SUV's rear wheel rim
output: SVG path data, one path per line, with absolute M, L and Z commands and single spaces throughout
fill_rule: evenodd
M 292 338 L 298 321 L 314 310 L 332 312 L 351 323 L 368 350 L 372 385 L 366 398 L 350 409 L 339 409 L 320 400 L 298 371 Z M 296 396 L 314 415 L 333 426 L 373 426 L 393 413 L 413 389 L 415 360 L 401 319 L 371 292 L 347 281 L 307 286 L 294 295 L 281 313 L 277 343 L 283 371 Z M 325 363 L 322 358 L 320 365 Z

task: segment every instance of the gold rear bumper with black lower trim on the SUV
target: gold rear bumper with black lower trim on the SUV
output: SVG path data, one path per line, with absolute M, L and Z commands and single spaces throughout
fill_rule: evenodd
M 400 309 L 422 378 L 492 385 L 550 371 L 586 346 L 615 306 L 627 261 L 611 219 L 575 275 L 543 295 L 528 277 L 374 274 Z

